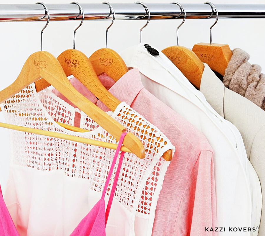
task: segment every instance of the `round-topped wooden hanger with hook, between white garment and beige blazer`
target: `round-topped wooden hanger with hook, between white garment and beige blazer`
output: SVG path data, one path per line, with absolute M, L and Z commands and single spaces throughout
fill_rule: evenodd
M 204 65 L 198 56 L 193 53 L 193 51 L 187 47 L 178 45 L 178 29 L 185 22 L 186 12 L 181 4 L 178 2 L 171 2 L 177 4 L 180 7 L 181 14 L 184 13 L 183 21 L 177 28 L 177 45 L 167 47 L 162 50 L 164 53 L 178 69 L 183 73 L 183 75 L 196 87 L 200 88 L 201 77 L 204 70 Z M 181 15 L 180 14 L 180 15 Z

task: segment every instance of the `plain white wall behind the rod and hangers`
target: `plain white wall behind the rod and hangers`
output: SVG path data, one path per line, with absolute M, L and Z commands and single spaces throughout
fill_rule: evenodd
M 100 3 L 103 0 L 86 0 L 80 3 Z M 204 0 L 205 1 L 205 0 Z M 185 3 L 203 3 L 203 0 L 189 0 Z M 35 3 L 37 0 L 0 0 L 1 4 Z M 54 3 L 54 1 L 44 1 Z M 70 2 L 70 1 L 69 1 Z M 132 0 L 115 0 L 115 3 L 132 3 Z M 170 2 L 170 1 L 168 1 Z M 67 3 L 56 0 L 56 3 Z M 114 3 L 114 1 L 113 1 Z M 145 0 L 145 3 L 165 3 L 163 0 Z M 264 0 L 216 0 L 213 3 L 265 4 Z M 175 29 L 182 20 L 153 20 L 142 32 L 142 42 L 155 45 L 160 50 L 175 45 Z M 192 48 L 199 42 L 209 42 L 209 27 L 214 19 L 188 19 L 179 30 L 179 44 Z M 11 84 L 18 76 L 30 54 L 39 51 L 40 32 L 45 22 L 1 22 L 0 23 L 0 89 Z M 73 31 L 79 22 L 50 22 L 43 33 L 44 50 L 54 56 L 72 48 Z M 86 21 L 77 31 L 76 49 L 87 56 L 105 46 L 105 30 L 110 21 Z M 116 21 L 109 30 L 108 45 L 119 52 L 135 45 L 139 40 L 139 30 L 145 21 Z M 249 60 L 259 64 L 265 73 L 265 19 L 219 19 L 212 31 L 213 42 L 226 43 L 231 49 L 240 47 L 251 55 Z M 3 114 L 0 113 L 3 122 Z M 5 189 L 9 168 L 8 130 L 1 128 L 0 135 L 0 182 Z

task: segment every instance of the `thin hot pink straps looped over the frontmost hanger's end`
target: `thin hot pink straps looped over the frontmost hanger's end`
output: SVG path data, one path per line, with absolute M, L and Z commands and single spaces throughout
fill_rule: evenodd
M 104 199 L 105 194 L 107 192 L 107 188 L 108 188 L 108 185 L 110 183 L 110 178 L 111 178 L 112 172 L 114 170 L 114 166 L 116 164 L 116 161 L 117 161 L 117 158 L 118 158 L 118 155 L 119 155 L 119 152 L 120 152 L 120 149 L 121 149 L 121 146 L 122 146 L 122 142 L 124 140 L 125 135 L 127 135 L 127 132 L 122 133 L 122 135 L 120 136 L 120 140 L 119 140 L 119 143 L 118 143 L 118 146 L 117 146 L 117 150 L 116 150 L 114 158 L 112 160 L 112 163 L 111 163 L 111 166 L 110 166 L 110 171 L 109 171 L 109 174 L 107 176 L 107 180 L 106 180 L 106 183 L 105 183 L 105 186 L 104 186 L 104 189 L 103 189 L 103 193 L 102 193 L 102 196 L 101 196 L 102 199 Z M 111 189 L 111 192 L 110 192 L 110 198 L 109 198 L 108 205 L 107 205 L 107 210 L 106 210 L 106 224 L 107 224 L 107 219 L 108 219 L 108 216 L 109 216 L 109 213 L 110 213 L 110 207 L 111 207 L 111 204 L 112 204 L 112 201 L 113 201 L 115 190 L 116 190 L 116 187 L 117 187 L 118 178 L 119 178 L 120 169 L 121 169 L 121 166 L 122 166 L 122 160 L 123 160 L 124 154 L 125 154 L 124 152 L 121 152 L 120 160 L 119 160 L 119 163 L 118 163 L 117 171 L 116 171 L 114 182 L 113 182 L 113 186 L 112 186 L 112 189 Z

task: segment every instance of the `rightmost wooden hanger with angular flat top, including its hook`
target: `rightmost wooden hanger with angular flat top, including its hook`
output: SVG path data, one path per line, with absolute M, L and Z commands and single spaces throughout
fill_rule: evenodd
M 228 44 L 212 43 L 212 28 L 218 21 L 218 11 L 211 2 L 205 2 L 211 6 L 212 15 L 215 9 L 216 20 L 210 28 L 210 43 L 198 43 L 192 48 L 192 51 L 213 70 L 224 76 L 227 65 L 231 59 L 232 51 Z

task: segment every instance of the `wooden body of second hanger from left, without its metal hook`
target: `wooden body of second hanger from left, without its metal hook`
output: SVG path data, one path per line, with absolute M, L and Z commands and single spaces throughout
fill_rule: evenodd
M 120 104 L 120 101 L 100 82 L 90 60 L 84 53 L 76 49 L 68 49 L 62 52 L 57 60 L 62 65 L 66 76 L 73 75 L 77 78 L 112 112 Z

